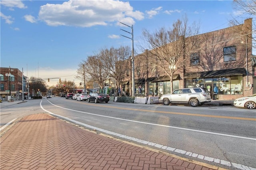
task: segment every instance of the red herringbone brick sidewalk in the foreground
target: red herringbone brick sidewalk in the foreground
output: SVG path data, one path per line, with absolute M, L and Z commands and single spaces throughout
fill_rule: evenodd
M 46 114 L 24 117 L 1 136 L 0 142 L 1 170 L 211 170 L 210 168 L 218 168 L 108 138 Z

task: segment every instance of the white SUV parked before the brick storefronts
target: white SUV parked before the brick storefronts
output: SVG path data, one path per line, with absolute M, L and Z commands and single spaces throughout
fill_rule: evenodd
M 192 107 L 202 106 L 211 101 L 211 95 L 206 88 L 176 89 L 169 95 L 163 95 L 161 101 L 164 105 L 170 103 L 188 103 Z

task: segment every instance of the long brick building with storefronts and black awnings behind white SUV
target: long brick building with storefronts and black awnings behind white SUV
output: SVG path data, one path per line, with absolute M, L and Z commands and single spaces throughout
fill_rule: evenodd
M 173 75 L 173 90 L 203 86 L 211 93 L 212 99 L 236 99 L 256 93 L 252 18 L 244 20 L 244 24 L 193 38 L 200 41 L 200 46 L 190 55 L 184 55 L 186 62 Z M 185 50 L 191 39 L 184 38 Z M 135 92 L 159 97 L 171 93 L 170 76 L 154 67 L 154 62 L 148 61 L 150 56 L 147 53 L 146 50 L 134 57 Z M 122 91 L 132 95 L 131 84 L 130 73 L 123 79 Z

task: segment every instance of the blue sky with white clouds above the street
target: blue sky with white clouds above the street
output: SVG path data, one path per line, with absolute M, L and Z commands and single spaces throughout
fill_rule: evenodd
M 58 78 L 79 84 L 78 65 L 87 56 L 132 45 L 131 34 L 120 29 L 131 33 L 133 26 L 136 50 L 143 29 L 168 28 L 185 15 L 200 24 L 200 34 L 246 19 L 231 0 L 1 0 L 0 66 L 50 78 L 49 86 Z

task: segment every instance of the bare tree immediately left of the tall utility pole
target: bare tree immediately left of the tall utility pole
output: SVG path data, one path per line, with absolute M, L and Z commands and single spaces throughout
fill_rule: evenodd
M 127 71 L 130 68 L 131 49 L 129 46 L 110 49 L 101 49 L 99 56 L 102 64 L 108 68 L 109 78 L 116 80 L 116 87 L 124 80 Z

